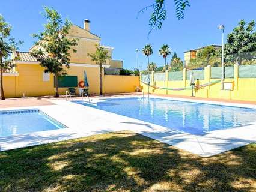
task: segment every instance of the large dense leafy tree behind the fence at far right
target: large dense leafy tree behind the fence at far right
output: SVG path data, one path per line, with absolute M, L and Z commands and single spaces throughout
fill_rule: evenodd
M 240 20 L 239 25 L 233 29 L 233 32 L 227 35 L 225 44 L 225 55 L 230 60 L 236 60 L 242 64 L 243 58 L 248 58 L 251 53 L 256 51 L 256 31 L 255 21 L 246 23 Z M 246 54 L 247 52 L 247 54 Z

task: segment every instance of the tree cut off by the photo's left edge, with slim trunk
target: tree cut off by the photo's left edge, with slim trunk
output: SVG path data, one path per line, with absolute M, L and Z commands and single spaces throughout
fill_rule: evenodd
M 0 97 L 1 100 L 5 100 L 4 96 L 4 83 L 3 73 L 4 71 L 10 70 L 14 67 L 13 59 L 10 59 L 11 52 L 17 49 L 17 46 L 22 43 L 19 41 L 15 42 L 14 38 L 11 37 L 11 26 L 5 22 L 3 16 L 0 15 Z

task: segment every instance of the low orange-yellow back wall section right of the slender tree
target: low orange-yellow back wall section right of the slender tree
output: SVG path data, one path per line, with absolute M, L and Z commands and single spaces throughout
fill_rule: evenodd
M 139 76 L 104 76 L 103 93 L 135 92 Z

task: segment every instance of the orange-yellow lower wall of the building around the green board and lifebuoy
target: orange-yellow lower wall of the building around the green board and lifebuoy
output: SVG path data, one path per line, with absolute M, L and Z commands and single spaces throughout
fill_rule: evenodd
M 6 97 L 27 97 L 54 95 L 54 76 L 50 74 L 50 81 L 43 81 L 44 69 L 38 64 L 17 64 L 19 76 L 4 76 L 4 91 Z M 99 94 L 99 67 L 70 67 L 68 75 L 78 76 L 78 82 L 84 80 L 84 70 L 90 83 L 89 94 Z M 67 88 L 59 88 L 59 94 L 65 95 Z M 78 94 L 78 88 L 76 88 Z

